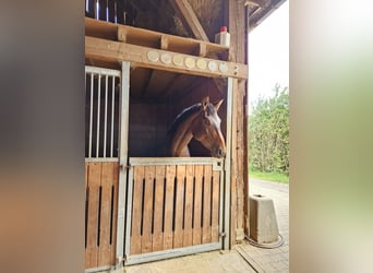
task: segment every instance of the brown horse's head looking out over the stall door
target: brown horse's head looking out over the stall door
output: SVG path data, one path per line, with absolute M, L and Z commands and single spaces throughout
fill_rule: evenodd
M 224 157 L 226 155 L 226 142 L 220 130 L 220 118 L 217 115 L 222 99 L 215 105 L 209 103 L 209 97 L 201 102 L 200 114 L 192 124 L 194 139 L 209 150 L 212 156 Z

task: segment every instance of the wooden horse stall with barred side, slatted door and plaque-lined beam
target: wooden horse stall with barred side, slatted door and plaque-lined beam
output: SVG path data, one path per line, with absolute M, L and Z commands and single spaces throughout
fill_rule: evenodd
M 86 271 L 229 249 L 244 228 L 243 213 L 232 211 L 242 204 L 232 169 L 248 67 L 227 45 L 107 14 L 111 22 L 85 19 Z M 175 118 L 207 96 L 224 99 L 226 156 L 197 141 L 191 157 L 165 155 Z

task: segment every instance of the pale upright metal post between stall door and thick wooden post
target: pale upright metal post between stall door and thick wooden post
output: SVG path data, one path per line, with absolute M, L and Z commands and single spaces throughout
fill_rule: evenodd
M 224 249 L 229 249 L 230 241 L 230 163 L 231 163 L 231 132 L 232 132 L 232 102 L 233 102 L 233 79 L 228 78 L 228 87 L 227 87 L 227 156 L 225 162 L 225 199 L 224 199 L 224 233 L 226 236 L 224 237 Z

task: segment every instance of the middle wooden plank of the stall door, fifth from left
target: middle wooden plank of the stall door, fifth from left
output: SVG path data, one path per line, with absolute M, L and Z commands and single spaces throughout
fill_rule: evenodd
M 181 248 L 183 245 L 183 218 L 184 218 L 184 185 L 185 185 L 185 166 L 177 166 L 177 189 L 176 189 L 176 207 L 175 207 L 175 234 L 173 248 Z

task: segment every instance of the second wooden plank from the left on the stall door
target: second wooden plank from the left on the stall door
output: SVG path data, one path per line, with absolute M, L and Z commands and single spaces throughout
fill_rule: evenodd
M 152 252 L 152 223 L 153 223 L 153 191 L 156 177 L 155 166 L 145 166 L 145 188 L 144 209 L 143 209 L 143 234 L 141 242 L 141 252 Z

